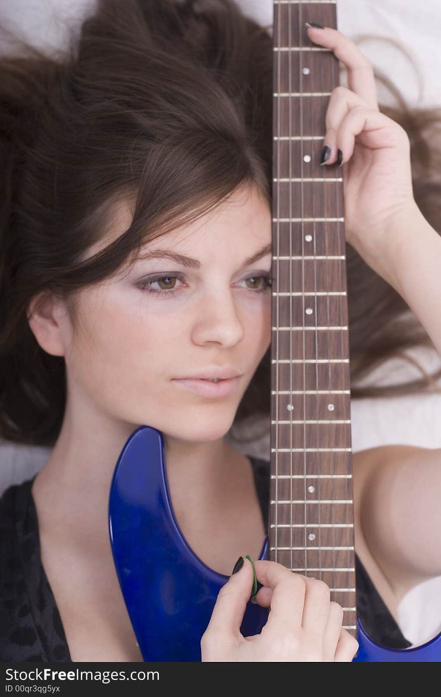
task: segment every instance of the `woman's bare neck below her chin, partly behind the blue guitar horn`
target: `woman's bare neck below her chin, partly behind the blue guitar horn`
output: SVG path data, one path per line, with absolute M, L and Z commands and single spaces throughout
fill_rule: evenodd
M 75 539 L 81 546 L 93 547 L 95 553 L 108 553 L 111 477 L 127 438 L 137 426 L 105 420 L 98 423 L 84 410 L 81 418 L 77 416 L 66 408 L 59 438 L 33 483 L 33 499 L 45 534 Z M 225 476 L 226 467 L 231 468 L 240 457 L 224 438 L 190 443 L 164 434 L 164 443 L 176 510 L 190 507 L 202 514 L 204 506 L 222 499 L 222 484 L 230 480 Z

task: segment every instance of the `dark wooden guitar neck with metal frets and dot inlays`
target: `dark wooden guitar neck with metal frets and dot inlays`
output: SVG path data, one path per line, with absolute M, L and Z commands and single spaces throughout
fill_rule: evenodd
M 320 167 L 339 61 L 305 22 L 335 2 L 274 0 L 268 558 L 323 579 L 355 633 L 343 176 Z

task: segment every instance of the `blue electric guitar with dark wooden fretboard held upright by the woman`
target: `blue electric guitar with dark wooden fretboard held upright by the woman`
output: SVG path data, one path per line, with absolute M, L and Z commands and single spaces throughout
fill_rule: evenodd
M 343 178 L 318 164 L 339 61 L 305 26 L 336 27 L 336 3 L 273 8 L 270 510 L 259 558 L 330 586 L 359 641 L 354 661 L 440 661 L 441 635 L 389 649 L 357 621 Z M 206 566 L 180 531 L 157 429 L 139 427 L 121 451 L 109 535 L 144 660 L 200 661 L 229 576 Z M 258 634 L 267 619 L 268 608 L 249 602 L 242 634 Z

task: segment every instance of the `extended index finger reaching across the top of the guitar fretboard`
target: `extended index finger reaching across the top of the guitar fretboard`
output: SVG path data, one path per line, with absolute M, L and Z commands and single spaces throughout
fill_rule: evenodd
M 314 43 L 329 48 L 348 70 L 348 87 L 364 99 L 372 109 L 378 111 L 378 95 L 372 63 L 362 54 L 357 45 L 338 29 L 310 27 L 308 36 Z

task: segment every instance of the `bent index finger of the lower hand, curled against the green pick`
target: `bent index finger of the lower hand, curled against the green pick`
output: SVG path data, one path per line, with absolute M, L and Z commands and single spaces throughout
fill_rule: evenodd
M 265 631 L 278 633 L 300 627 L 306 589 L 304 578 L 278 562 L 258 560 L 254 567 L 258 582 L 272 588 L 271 612 Z

